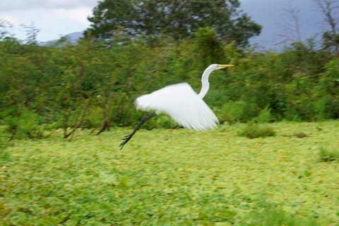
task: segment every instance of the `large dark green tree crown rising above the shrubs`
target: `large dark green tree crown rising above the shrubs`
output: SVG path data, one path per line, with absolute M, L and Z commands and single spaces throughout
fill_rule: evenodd
M 169 35 L 181 40 L 210 27 L 220 39 L 245 47 L 261 32 L 261 25 L 239 6 L 238 0 L 104 0 L 93 9 L 85 34 L 105 40 L 122 30 L 133 38 Z

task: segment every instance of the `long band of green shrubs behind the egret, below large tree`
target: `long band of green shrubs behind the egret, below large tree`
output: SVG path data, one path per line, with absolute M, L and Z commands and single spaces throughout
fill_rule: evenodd
M 210 76 L 205 100 L 220 122 L 315 121 L 339 117 L 339 59 L 310 40 L 283 52 L 239 49 L 210 28 L 191 38 L 161 37 L 152 44 L 117 34 L 115 42 L 59 40 L 41 47 L 13 37 L 0 41 L 0 120 L 11 138 L 39 138 L 61 128 L 93 134 L 133 126 L 138 95 L 187 82 L 198 92 L 201 73 L 212 63 L 234 64 Z M 266 117 L 263 117 L 266 115 Z M 145 124 L 177 126 L 167 117 Z

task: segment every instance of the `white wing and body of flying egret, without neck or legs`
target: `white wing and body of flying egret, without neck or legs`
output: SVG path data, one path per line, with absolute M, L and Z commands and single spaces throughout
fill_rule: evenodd
M 165 113 L 178 124 L 197 131 L 215 129 L 218 119 L 187 83 L 168 85 L 136 99 L 136 108 Z

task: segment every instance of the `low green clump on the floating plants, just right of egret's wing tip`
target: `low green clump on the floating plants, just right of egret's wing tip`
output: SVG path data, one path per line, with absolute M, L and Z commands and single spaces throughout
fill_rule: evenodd
M 275 131 L 270 126 L 259 126 L 258 124 L 249 123 L 243 131 L 238 133 L 238 135 L 253 139 L 266 136 L 275 136 Z

